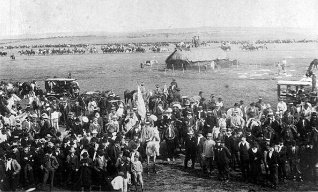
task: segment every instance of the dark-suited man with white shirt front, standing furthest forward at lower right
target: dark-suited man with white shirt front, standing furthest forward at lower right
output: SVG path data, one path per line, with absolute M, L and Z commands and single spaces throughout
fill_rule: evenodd
M 275 190 L 278 190 L 278 162 L 279 154 L 274 151 L 274 143 L 269 146 L 269 153 L 266 155 L 267 167 L 270 170 L 270 180 L 272 181 Z

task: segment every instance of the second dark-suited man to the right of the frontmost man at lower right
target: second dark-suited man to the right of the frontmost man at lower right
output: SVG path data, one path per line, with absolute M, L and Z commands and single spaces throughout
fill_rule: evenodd
M 291 141 L 291 146 L 287 148 L 287 158 L 289 161 L 289 167 L 291 175 L 293 176 L 293 181 L 296 181 L 296 176 L 302 181 L 301 172 L 299 169 L 300 162 L 300 149 L 296 146 L 296 141 Z

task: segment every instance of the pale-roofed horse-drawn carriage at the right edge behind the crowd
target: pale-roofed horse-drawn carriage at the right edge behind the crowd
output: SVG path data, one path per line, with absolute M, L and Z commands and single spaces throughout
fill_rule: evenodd
M 311 92 L 311 82 L 308 81 L 278 81 L 277 97 L 278 100 L 293 104 L 304 101 L 311 104 L 318 102 L 317 93 Z

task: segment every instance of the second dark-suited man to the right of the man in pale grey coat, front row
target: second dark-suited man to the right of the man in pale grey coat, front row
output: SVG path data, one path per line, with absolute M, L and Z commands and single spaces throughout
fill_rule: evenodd
M 229 163 L 230 163 L 231 153 L 229 149 L 225 146 L 225 141 L 221 141 L 221 148 L 219 151 L 219 162 L 218 166 L 220 166 L 221 169 L 221 176 L 222 178 L 225 178 L 225 182 L 229 182 Z

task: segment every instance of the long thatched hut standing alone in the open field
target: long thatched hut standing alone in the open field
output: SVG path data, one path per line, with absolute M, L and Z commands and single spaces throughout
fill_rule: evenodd
M 173 70 L 187 70 L 191 67 L 196 67 L 200 70 L 200 67 L 204 67 L 205 64 L 208 66 L 218 65 L 217 67 L 220 68 L 232 66 L 226 56 L 226 53 L 220 47 L 211 49 L 194 49 L 191 51 L 176 49 L 166 59 L 166 69 Z

